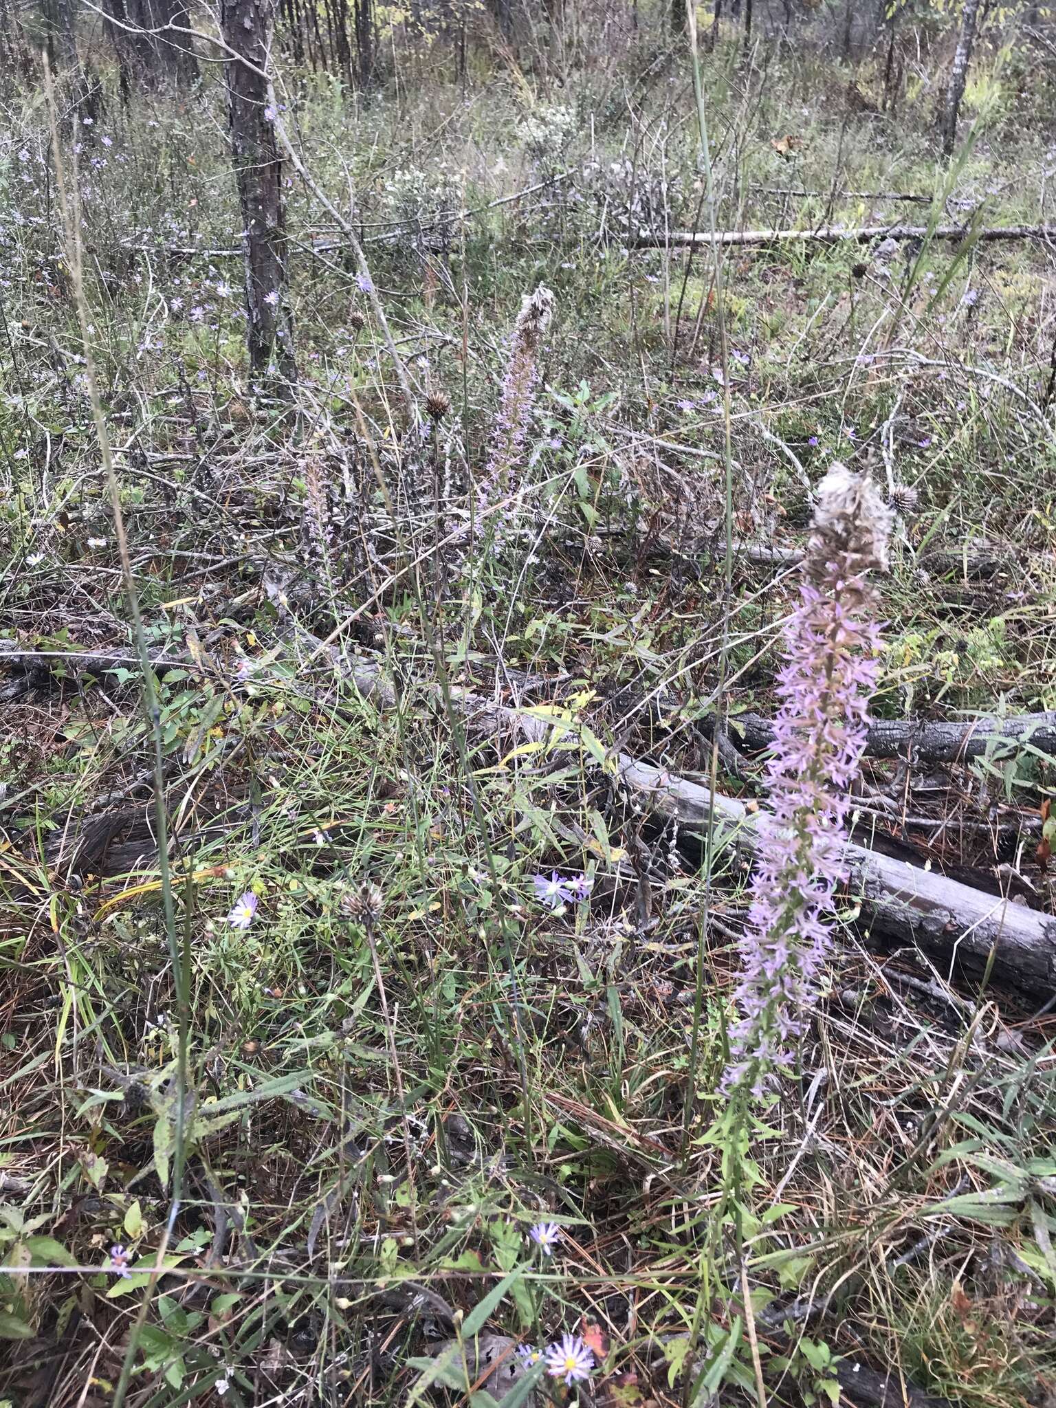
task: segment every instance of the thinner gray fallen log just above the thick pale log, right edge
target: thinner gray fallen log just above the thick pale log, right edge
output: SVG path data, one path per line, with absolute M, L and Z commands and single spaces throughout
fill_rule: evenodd
M 728 724 L 749 749 L 762 750 L 773 743 L 774 725 L 760 714 L 735 714 Z M 1029 745 L 1056 758 L 1056 710 L 1014 718 L 876 719 L 869 725 L 866 752 L 870 758 L 912 756 L 925 763 L 953 763 L 980 758 L 1001 743 Z

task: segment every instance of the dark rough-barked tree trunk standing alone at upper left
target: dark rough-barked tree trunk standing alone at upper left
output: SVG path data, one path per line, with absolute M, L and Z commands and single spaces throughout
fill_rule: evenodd
M 276 0 L 221 0 L 220 24 L 225 44 L 239 55 L 227 63 L 227 93 L 244 225 L 249 365 L 266 372 L 277 341 L 280 370 L 291 376 L 291 339 L 280 324 L 286 291 L 282 159 L 266 76 L 275 10 Z

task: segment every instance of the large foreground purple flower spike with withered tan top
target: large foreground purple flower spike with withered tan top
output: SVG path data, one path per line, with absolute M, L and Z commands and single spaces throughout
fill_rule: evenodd
M 791 1071 L 843 877 L 843 822 L 866 739 L 879 628 L 866 573 L 887 566 L 891 511 L 866 474 L 834 465 L 818 487 L 800 604 L 786 628 L 781 705 L 741 942 L 728 1094 L 762 1100 Z

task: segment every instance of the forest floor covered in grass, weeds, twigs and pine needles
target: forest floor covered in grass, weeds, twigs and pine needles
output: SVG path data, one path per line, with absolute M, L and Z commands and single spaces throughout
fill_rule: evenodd
M 549 94 L 417 62 L 362 110 L 287 93 L 373 282 L 291 175 L 293 391 L 245 372 L 217 84 L 107 93 L 79 135 L 156 722 L 46 108 L 7 103 L 0 1402 L 110 1404 L 128 1360 L 139 1408 L 517 1408 L 574 1397 L 515 1356 L 574 1332 L 610 1408 L 1052 1405 L 1050 991 L 886 945 L 849 894 L 803 1076 L 731 1150 L 749 865 L 612 765 L 765 796 L 736 718 L 773 717 L 797 570 L 745 545 L 801 546 L 834 459 L 915 491 L 874 714 L 1056 707 L 1056 262 L 976 238 L 1056 218 L 1045 83 L 980 61 L 943 163 L 936 80 L 883 114 L 879 61 L 719 45 L 722 228 L 972 232 L 731 248 L 717 298 L 710 249 L 622 241 L 707 228 L 681 61 Z M 496 532 L 474 494 L 539 283 Z M 1029 736 L 867 759 L 859 835 L 1052 914 L 1053 781 Z

